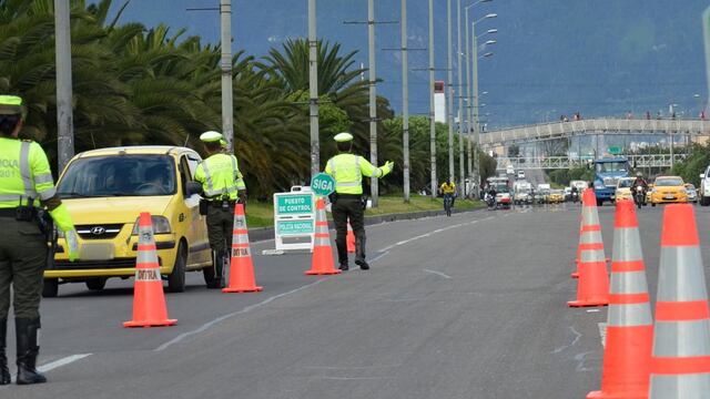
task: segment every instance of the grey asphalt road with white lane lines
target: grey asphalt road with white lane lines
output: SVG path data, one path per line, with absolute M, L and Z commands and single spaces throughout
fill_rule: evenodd
M 710 213 L 698 212 L 708 259 Z M 124 329 L 131 285 L 42 303 L 50 382 L 2 398 L 584 398 L 606 309 L 570 309 L 579 206 L 369 226 L 372 270 L 310 277 L 307 255 L 254 258 L 264 291 L 168 294 L 175 327 Z M 640 212 L 656 293 L 662 208 Z M 600 208 L 607 255 L 613 208 Z M 253 245 L 253 253 L 273 243 Z M 13 342 L 9 342 L 14 358 Z

